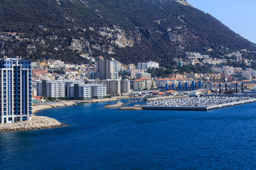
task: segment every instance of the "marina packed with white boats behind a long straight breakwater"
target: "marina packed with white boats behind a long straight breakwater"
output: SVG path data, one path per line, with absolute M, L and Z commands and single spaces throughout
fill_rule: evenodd
M 202 96 L 149 101 L 139 107 L 149 110 L 210 111 L 253 102 L 256 102 L 256 98 L 247 96 Z

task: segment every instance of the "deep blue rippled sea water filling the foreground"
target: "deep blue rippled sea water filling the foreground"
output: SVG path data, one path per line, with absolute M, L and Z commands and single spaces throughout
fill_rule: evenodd
M 256 103 L 208 112 L 106 104 L 37 114 L 65 128 L 0 133 L 1 169 L 256 169 Z

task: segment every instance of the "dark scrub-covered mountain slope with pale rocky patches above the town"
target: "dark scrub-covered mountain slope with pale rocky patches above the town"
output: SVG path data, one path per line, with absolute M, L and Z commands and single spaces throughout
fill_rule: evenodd
M 185 0 L 1 0 L 0 23 L 1 56 L 31 60 L 87 62 L 80 56 L 104 55 L 168 67 L 184 52 L 256 51 Z

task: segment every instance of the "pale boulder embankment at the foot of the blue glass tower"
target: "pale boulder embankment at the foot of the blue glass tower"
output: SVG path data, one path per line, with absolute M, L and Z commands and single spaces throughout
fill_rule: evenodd
M 32 115 L 31 121 L 23 121 L 19 123 L 0 124 L 0 132 L 16 131 L 16 130 L 39 130 L 48 128 L 58 128 L 65 126 L 53 118 L 46 116 Z

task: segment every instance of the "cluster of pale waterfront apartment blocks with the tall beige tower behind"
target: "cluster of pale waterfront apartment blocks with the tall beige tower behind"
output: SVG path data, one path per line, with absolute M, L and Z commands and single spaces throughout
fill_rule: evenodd
M 41 80 L 36 83 L 36 96 L 83 100 L 130 93 L 129 79 L 118 77 L 116 60 L 99 57 L 96 72 L 91 72 L 90 78 L 73 81 Z

